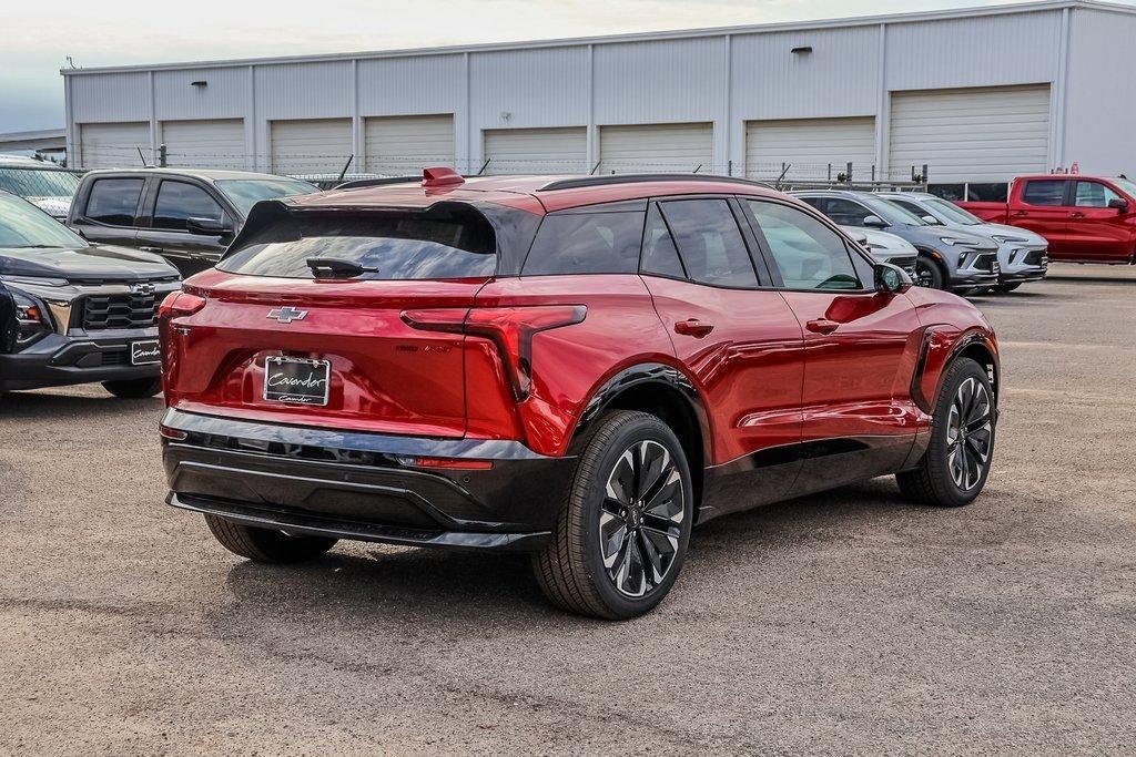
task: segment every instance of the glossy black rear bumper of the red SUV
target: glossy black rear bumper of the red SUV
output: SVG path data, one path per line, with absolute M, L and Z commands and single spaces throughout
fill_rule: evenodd
M 168 504 L 365 541 L 538 549 L 575 470 L 575 459 L 508 440 L 341 432 L 176 410 L 162 427 Z M 419 457 L 492 468 L 423 468 Z

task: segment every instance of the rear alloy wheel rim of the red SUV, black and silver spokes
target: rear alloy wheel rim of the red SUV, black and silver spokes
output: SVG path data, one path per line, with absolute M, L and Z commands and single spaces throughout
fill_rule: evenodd
M 616 589 L 643 597 L 675 564 L 682 537 L 683 478 L 665 446 L 636 441 L 608 477 L 600 508 L 603 567 Z

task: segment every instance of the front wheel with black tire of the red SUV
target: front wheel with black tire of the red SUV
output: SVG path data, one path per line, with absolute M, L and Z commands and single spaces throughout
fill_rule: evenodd
M 969 385 L 972 387 L 972 410 L 966 406 L 967 393 L 963 389 L 970 381 L 974 382 Z M 962 403 L 961 407 L 959 403 Z M 979 417 L 987 419 L 980 427 L 977 420 Z M 976 420 L 969 422 L 967 430 L 962 431 L 961 426 L 955 424 L 955 418 Z M 996 426 L 997 410 L 986 371 L 972 360 L 957 359 L 946 369 L 943 387 L 935 402 L 927 452 L 913 470 L 895 474 L 900 491 L 909 499 L 926 505 L 969 505 L 986 486 L 994 460 Z

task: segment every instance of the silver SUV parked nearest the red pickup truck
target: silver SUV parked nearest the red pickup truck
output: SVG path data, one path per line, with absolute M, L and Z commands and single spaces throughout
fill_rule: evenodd
M 997 244 L 997 292 L 1013 292 L 1026 281 L 1045 278 L 1050 266 L 1050 243 L 1041 234 L 1014 226 L 987 224 L 949 200 L 925 192 L 882 192 L 879 196 L 919 216 L 933 226 L 943 226 L 984 236 Z

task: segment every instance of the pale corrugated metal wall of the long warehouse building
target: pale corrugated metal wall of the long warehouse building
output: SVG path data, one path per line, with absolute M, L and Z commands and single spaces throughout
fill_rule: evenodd
M 1067 16 L 1074 18 L 1069 75 L 1076 84 L 1068 87 L 1068 102 Z M 1136 19 L 1121 14 L 1049 7 L 886 25 L 74 72 L 66 87 L 69 146 L 73 155 L 82 154 L 81 124 L 147 120 L 157 146 L 156 124 L 162 120 L 243 118 L 249 155 L 242 167 L 268 168 L 270 121 L 351 118 L 358 152 L 368 116 L 450 113 L 458 168 L 476 170 L 486 129 L 585 127 L 587 161 L 594 165 L 601 126 L 710 123 L 715 170 L 743 175 L 746 121 L 874 117 L 883 173 L 891 92 L 1052 84 L 1052 161 L 1078 151 L 1083 160 L 1096 161 L 1121 134 L 1127 144 L 1136 125 L 1136 96 L 1128 90 L 1126 98 L 1113 98 L 1108 119 L 1099 104 L 1110 90 L 1133 86 L 1130 77 L 1117 81 L 1106 72 L 1136 37 L 1134 25 Z M 1095 42 L 1102 39 L 1112 42 Z M 811 51 L 793 53 L 794 48 Z M 207 85 L 194 87 L 195 81 Z M 1092 112 L 1097 116 L 1085 115 Z M 340 168 L 339 155 L 328 161 L 328 171 Z

